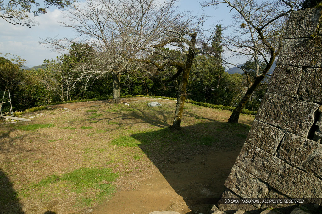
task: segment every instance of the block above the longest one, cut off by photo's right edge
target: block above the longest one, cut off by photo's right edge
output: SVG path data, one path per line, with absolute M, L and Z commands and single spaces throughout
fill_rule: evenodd
M 286 133 L 277 157 L 308 174 L 322 178 L 322 144 Z

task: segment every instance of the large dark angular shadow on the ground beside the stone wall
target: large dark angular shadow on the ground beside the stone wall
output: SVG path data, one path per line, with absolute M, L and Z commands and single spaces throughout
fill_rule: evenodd
M 249 125 L 206 122 L 131 135 L 192 210 L 209 213 L 222 194 Z

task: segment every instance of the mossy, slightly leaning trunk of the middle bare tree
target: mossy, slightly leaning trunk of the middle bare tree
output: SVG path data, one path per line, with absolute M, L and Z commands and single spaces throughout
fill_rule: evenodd
M 175 118 L 173 119 L 172 126 L 170 126 L 171 130 L 181 130 L 182 112 L 186 96 L 185 89 L 187 88 L 189 72 L 191 69 L 192 62 L 194 60 L 194 45 L 196 43 L 196 36 L 197 33 L 194 33 L 190 40 L 191 46 L 189 46 L 187 61 L 185 63 L 185 68 L 183 68 L 182 71 L 182 80 L 177 94 L 177 105 L 175 107 Z

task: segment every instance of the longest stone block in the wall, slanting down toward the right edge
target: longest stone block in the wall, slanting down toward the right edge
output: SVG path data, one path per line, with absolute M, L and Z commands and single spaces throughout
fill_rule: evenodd
M 321 198 L 322 181 L 245 143 L 235 165 L 290 198 Z

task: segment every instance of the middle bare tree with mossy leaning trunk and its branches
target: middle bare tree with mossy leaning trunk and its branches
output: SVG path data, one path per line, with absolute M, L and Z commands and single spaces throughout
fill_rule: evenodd
M 188 14 L 181 14 L 161 34 L 162 40 L 160 42 L 143 49 L 148 54 L 157 57 L 150 56 L 149 59 L 146 55 L 143 55 L 141 59 L 134 59 L 136 62 L 153 65 L 154 69 L 156 69 L 153 73 L 149 71 L 151 68 L 146 68 L 145 70 L 154 79 L 159 79 L 161 82 L 173 81 L 181 75 L 181 81 L 177 89 L 175 116 L 173 124 L 170 126 L 172 130 L 181 129 L 183 108 L 187 96 L 186 87 L 194 57 L 198 54 L 206 53 L 207 48 L 211 45 L 214 30 L 206 37 L 206 31 L 202 29 L 203 22 L 204 17 L 196 19 L 196 17 Z M 171 54 L 171 51 L 168 51 L 164 47 L 171 47 L 172 50 L 177 50 L 181 54 L 178 57 L 177 54 Z M 174 52 L 172 51 L 172 53 Z M 160 71 L 165 70 L 169 66 L 175 67 L 177 69 L 176 73 L 168 79 L 160 80 L 162 78 L 160 77 Z

